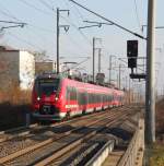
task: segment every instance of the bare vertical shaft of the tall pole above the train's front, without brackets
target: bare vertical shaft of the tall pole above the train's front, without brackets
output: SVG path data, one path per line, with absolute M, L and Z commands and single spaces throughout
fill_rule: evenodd
M 57 74 L 59 71 L 59 8 L 57 8 Z

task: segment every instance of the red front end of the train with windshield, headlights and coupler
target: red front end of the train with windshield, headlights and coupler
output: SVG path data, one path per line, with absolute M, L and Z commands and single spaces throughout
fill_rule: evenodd
M 33 117 L 38 120 L 61 119 L 61 79 L 58 75 L 37 76 L 33 87 Z

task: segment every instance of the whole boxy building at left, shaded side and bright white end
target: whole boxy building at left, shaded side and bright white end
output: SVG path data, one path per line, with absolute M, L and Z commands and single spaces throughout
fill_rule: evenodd
M 35 59 L 31 52 L 0 47 L 0 88 L 28 90 L 34 78 Z

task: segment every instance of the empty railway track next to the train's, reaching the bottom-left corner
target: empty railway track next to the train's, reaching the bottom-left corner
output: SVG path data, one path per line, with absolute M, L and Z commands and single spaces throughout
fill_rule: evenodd
M 32 144 L 31 146 L 23 147 L 22 150 L 16 150 L 14 153 L 11 153 L 11 154 L 8 154 L 7 156 L 1 157 L 0 164 L 3 164 L 3 165 L 36 164 L 37 163 L 36 161 L 39 161 L 40 157 L 45 158 L 45 157 L 48 157 L 51 153 L 54 154 L 55 150 L 58 151 L 58 153 L 57 152 L 55 153 L 55 155 L 58 158 L 63 153 L 63 150 L 65 151 L 66 151 L 66 149 L 70 150 L 70 147 L 68 147 L 68 145 L 78 146 L 78 144 L 82 144 L 82 142 L 84 140 L 90 138 L 89 135 L 94 135 L 98 131 L 110 126 L 112 122 L 114 121 L 113 119 L 115 119 L 115 123 L 117 123 L 118 122 L 117 118 L 119 116 L 121 116 L 121 115 L 125 116 L 128 114 L 128 111 L 127 111 L 128 108 L 119 108 L 119 109 L 121 109 L 121 111 L 120 110 L 118 112 L 112 111 L 110 114 L 108 114 L 108 111 L 106 111 L 106 112 L 104 111 L 104 112 L 99 114 L 99 116 L 96 116 L 96 118 L 90 119 L 87 117 L 87 122 L 86 122 L 85 118 L 82 118 L 81 122 L 80 122 L 80 120 L 78 120 L 77 128 L 70 129 L 62 133 L 54 133 L 50 139 L 45 139 L 44 141 L 42 140 L 37 143 L 35 142 L 35 144 Z M 130 108 L 129 108 L 129 110 L 130 110 Z M 72 126 L 73 124 L 74 124 L 74 121 L 73 121 Z M 74 127 L 75 127 L 75 124 L 74 124 Z M 94 130 L 94 129 L 96 129 L 96 130 Z M 89 132 L 89 135 L 87 135 L 87 132 Z M 74 141 L 74 140 L 77 140 L 77 141 Z M 66 146 L 66 149 L 63 146 Z M 62 153 L 60 150 L 62 150 Z M 31 162 L 28 163 L 27 161 L 28 162 L 31 161 Z

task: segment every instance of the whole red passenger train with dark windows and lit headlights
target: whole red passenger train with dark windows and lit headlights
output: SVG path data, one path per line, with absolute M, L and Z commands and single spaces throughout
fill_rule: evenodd
M 57 120 L 108 107 L 122 105 L 124 92 L 95 84 L 66 79 L 57 74 L 36 78 L 33 95 L 33 116 Z

